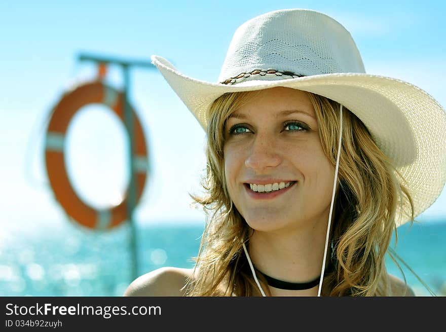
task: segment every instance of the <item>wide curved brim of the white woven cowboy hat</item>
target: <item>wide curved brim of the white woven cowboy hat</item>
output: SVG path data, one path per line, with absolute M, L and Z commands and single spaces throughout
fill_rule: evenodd
M 209 107 L 222 94 L 273 87 L 308 91 L 339 102 L 364 123 L 405 179 L 415 215 L 426 210 L 444 187 L 446 113 L 432 96 L 410 83 L 367 73 L 331 73 L 275 81 L 251 78 L 225 85 L 187 77 L 160 56 L 153 55 L 152 63 L 204 129 Z M 403 206 L 398 226 L 410 219 L 407 211 Z

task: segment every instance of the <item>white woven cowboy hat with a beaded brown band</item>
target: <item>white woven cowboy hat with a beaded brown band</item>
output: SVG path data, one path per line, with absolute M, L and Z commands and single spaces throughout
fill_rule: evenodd
M 206 129 L 208 109 L 227 92 L 288 87 L 346 106 L 368 128 L 406 180 L 415 215 L 438 197 L 446 180 L 446 112 L 422 89 L 365 73 L 349 31 L 312 10 L 279 10 L 254 17 L 234 33 L 216 83 L 182 75 L 169 61 L 152 63 Z M 402 208 L 396 220 L 409 220 Z

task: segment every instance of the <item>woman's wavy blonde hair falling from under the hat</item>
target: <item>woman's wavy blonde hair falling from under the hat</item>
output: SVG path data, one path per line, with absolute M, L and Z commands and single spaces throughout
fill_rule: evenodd
M 226 120 L 258 93 L 224 94 L 209 109 L 207 169 L 202 182 L 207 194 L 205 197 L 191 195 L 203 206 L 207 217 L 196 257 L 199 269 L 185 286 L 188 296 L 259 296 L 242 248 L 242 241 L 248 243 L 253 230 L 228 193 L 223 154 Z M 334 167 L 340 105 L 323 96 L 307 94 L 319 124 L 322 149 Z M 325 274 L 321 293 L 323 296 L 387 296 L 391 290 L 385 254 L 393 231 L 396 233 L 395 214 L 403 202 L 408 202 L 411 211 L 406 212 L 413 220 L 412 199 L 364 124 L 346 107 L 343 109 L 340 186 L 330 232 L 334 269 Z M 261 274 L 258 277 L 267 285 Z

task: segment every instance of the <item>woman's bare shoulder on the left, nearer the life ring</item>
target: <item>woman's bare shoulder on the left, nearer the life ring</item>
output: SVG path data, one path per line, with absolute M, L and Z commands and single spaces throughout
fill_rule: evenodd
M 181 288 L 194 269 L 159 268 L 133 280 L 124 292 L 127 297 L 182 297 Z

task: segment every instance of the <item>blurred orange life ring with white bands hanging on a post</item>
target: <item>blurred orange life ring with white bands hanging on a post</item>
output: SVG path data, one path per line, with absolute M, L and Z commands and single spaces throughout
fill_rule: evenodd
M 123 98 L 122 92 L 106 86 L 100 81 L 80 85 L 64 94 L 54 107 L 46 133 L 46 168 L 56 200 L 72 219 L 91 229 L 109 229 L 128 220 L 128 195 L 125 195 L 119 205 L 104 210 L 96 210 L 84 203 L 73 190 L 66 171 L 64 162 L 65 135 L 73 116 L 81 107 L 91 103 L 108 106 L 124 123 Z M 134 119 L 133 176 L 136 187 L 136 205 L 144 190 L 148 158 L 143 129 L 134 108 L 129 106 Z

